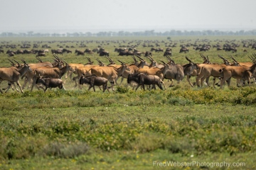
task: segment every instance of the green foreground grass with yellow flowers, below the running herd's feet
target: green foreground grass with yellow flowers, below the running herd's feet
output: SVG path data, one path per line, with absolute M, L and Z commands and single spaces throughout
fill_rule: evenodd
M 1 98 L 6 106 L 1 106 L 0 113 L 1 167 L 153 169 L 153 161 L 222 160 L 215 157 L 224 157 L 227 162 L 240 160 L 252 167 L 255 103 L 198 104 L 197 99 L 181 97 L 206 91 L 213 96 L 206 95 L 205 101 L 221 97 L 220 91 L 213 89 L 125 94 L 48 91 L 39 93 L 40 98 L 36 91 L 29 95 L 4 94 Z M 236 91 L 251 94 L 244 88 L 222 91 L 222 97 L 235 96 Z M 160 98 L 166 98 L 166 102 Z M 42 163 L 44 166 L 38 165 Z

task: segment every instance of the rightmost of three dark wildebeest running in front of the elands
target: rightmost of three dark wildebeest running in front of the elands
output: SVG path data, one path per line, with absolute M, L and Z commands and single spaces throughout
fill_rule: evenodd
M 142 88 L 145 90 L 145 86 L 144 86 L 145 84 L 153 85 L 154 89 L 156 89 L 156 86 L 159 86 L 159 89 L 163 90 L 163 87 L 161 86 L 161 79 L 155 75 L 146 75 L 144 73 L 129 74 L 129 76 L 127 78 L 127 83 L 129 84 L 131 81 L 134 81 L 138 84 L 135 91 L 137 91 L 139 86 L 142 86 Z

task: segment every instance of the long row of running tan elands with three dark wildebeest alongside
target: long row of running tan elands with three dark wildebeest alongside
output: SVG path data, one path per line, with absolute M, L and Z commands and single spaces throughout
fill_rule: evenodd
M 173 80 L 180 83 L 185 76 L 192 87 L 194 84 L 191 83 L 191 77 L 196 77 L 196 86 L 198 87 L 203 86 L 203 83 L 210 86 L 210 77 L 214 77 L 213 87 L 215 87 L 215 78 L 218 78 L 220 82 L 217 84 L 220 88 L 223 88 L 225 82 L 230 86 L 231 78 L 237 79 L 238 86 L 245 86 L 246 81 L 250 86 L 251 79 L 256 77 L 256 54 L 250 57 L 252 62 L 238 62 L 231 56 L 232 63 L 218 55 L 223 60 L 223 64 L 211 63 L 208 57 L 200 55 L 203 59 L 202 63 L 192 62 L 188 57 L 185 57 L 188 64 L 176 64 L 170 55 L 166 56 L 168 62 L 161 61 L 161 63 L 157 63 L 152 55 L 145 55 L 151 62 L 147 63 L 146 60 L 136 54 L 132 55 L 134 60 L 132 64 L 125 64 L 120 60 L 117 60 L 120 64 L 116 64 L 110 57 L 105 56 L 110 62 L 107 65 L 100 60 L 97 60 L 98 64 L 93 64 L 94 62 L 89 57 L 86 57 L 88 60 L 86 64 L 68 64 L 55 53 L 53 53 L 53 62 L 43 62 L 39 57 L 36 57 L 38 63 L 28 64 L 21 58 L 23 62 L 21 64 L 14 59 L 8 59 L 12 67 L 0 68 L 0 84 L 2 81 L 8 81 L 8 87 L 4 88 L 5 91 L 2 91 L 3 89 L 0 91 L 4 93 L 11 87 L 14 89 L 16 84 L 22 93 L 26 86 L 31 91 L 33 91 L 34 86 L 44 91 L 55 87 L 65 90 L 65 80 L 62 80 L 64 74 L 65 79 L 70 77 L 74 81 L 75 87 L 78 86 L 81 89 L 82 84 L 88 84 L 88 90 L 92 88 L 95 91 L 95 86 L 99 86 L 99 88 L 102 86 L 103 92 L 109 91 L 109 89 L 114 91 L 114 85 L 121 85 L 124 79 L 127 79 L 127 86 L 132 86 L 137 91 L 139 86 L 145 90 L 144 85 L 151 85 L 148 86 L 149 89 L 156 89 L 156 86 L 159 89 L 166 89 L 164 79 L 171 81 L 171 87 Z M 75 74 L 74 77 L 73 74 Z M 121 81 L 117 84 L 119 78 Z M 19 79 L 24 79 L 23 86 L 19 83 Z M 108 82 L 111 84 L 110 87 L 107 87 Z M 16 90 L 19 91 L 17 88 Z

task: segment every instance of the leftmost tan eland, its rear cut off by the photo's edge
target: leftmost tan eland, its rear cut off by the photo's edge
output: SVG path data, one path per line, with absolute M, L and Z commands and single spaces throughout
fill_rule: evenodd
M 8 84 L 9 86 L 5 92 L 7 92 L 10 89 L 11 84 L 14 84 L 14 83 L 16 83 L 18 87 L 21 89 L 21 84 L 18 82 L 18 79 L 22 77 L 26 72 L 32 71 L 29 65 L 25 62 L 25 60 L 21 59 L 21 61 L 24 63 L 23 66 L 21 66 L 21 68 L 16 68 L 16 67 L 0 68 L 0 84 L 1 84 L 1 81 L 4 81 L 4 80 L 9 81 L 9 84 Z M 3 93 L 1 89 L 0 89 L 0 92 Z M 21 93 L 23 93 L 22 89 L 21 89 Z

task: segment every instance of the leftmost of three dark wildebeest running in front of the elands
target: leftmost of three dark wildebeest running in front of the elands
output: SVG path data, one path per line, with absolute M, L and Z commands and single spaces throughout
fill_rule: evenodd
M 38 77 L 36 79 L 36 84 L 43 84 L 44 86 L 46 86 L 46 89 L 44 89 L 45 92 L 48 88 L 51 89 L 51 88 L 56 88 L 56 87 L 58 87 L 59 89 L 65 90 L 65 87 L 63 86 L 62 79 Z

